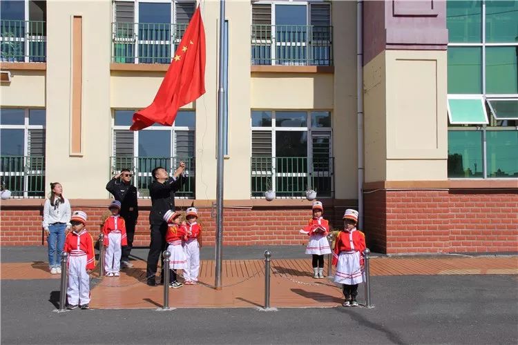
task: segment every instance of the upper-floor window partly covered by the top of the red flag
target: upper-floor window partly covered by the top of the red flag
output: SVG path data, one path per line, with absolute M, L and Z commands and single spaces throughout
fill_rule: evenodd
M 113 62 L 169 63 L 195 1 L 115 1 Z

